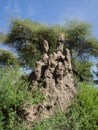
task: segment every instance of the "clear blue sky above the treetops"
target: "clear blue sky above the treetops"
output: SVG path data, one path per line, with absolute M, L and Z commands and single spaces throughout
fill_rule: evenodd
M 91 23 L 98 37 L 98 0 L 0 0 L 0 31 L 8 30 L 12 16 L 48 24 L 79 18 Z

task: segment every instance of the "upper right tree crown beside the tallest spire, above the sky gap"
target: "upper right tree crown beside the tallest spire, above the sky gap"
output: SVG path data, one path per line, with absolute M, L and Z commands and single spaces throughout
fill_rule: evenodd
M 67 21 L 66 31 L 68 33 L 69 43 L 67 47 L 72 55 L 80 59 L 88 58 L 90 55 L 98 54 L 98 40 L 92 36 L 92 27 L 90 24 L 74 19 Z

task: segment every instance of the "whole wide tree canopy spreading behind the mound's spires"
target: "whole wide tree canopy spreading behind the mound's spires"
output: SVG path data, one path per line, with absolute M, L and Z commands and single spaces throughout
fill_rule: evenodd
M 41 55 L 43 39 L 49 42 L 50 53 L 56 48 L 57 36 L 60 32 L 65 35 L 65 47 L 70 49 L 73 65 L 75 64 L 78 68 L 78 62 L 76 64 L 74 61 L 82 60 L 80 63 L 90 72 L 91 65 L 88 60 L 91 56 L 98 56 L 98 40 L 92 35 L 92 27 L 88 23 L 72 20 L 65 25 L 49 26 L 29 19 L 14 19 L 11 22 L 6 43 L 19 51 L 25 66 L 32 67 L 33 65 L 34 67 Z M 84 71 L 83 66 L 80 68 L 81 74 Z M 87 76 L 86 73 L 83 74 L 85 74 L 84 77 Z M 89 76 L 92 77 L 90 74 Z

